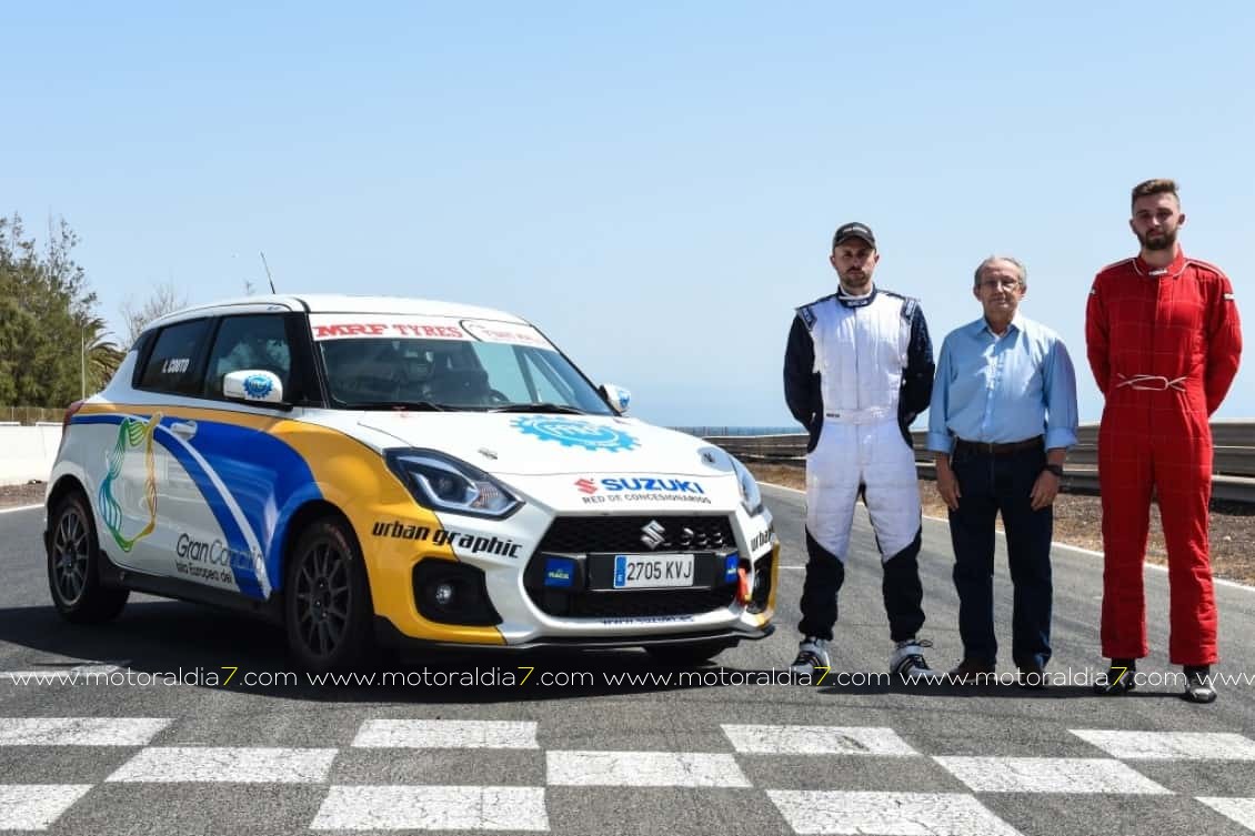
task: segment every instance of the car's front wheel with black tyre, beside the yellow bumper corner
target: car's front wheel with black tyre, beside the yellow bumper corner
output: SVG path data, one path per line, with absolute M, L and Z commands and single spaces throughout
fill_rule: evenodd
M 375 659 L 374 604 L 353 531 L 315 520 L 289 554 L 284 624 L 297 664 L 316 673 L 354 670 Z

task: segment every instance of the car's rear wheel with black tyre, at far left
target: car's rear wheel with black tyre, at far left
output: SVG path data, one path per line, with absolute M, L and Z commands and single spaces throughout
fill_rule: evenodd
M 118 618 L 131 590 L 100 585 L 100 546 L 87 497 L 80 491 L 67 493 L 49 520 L 48 591 L 53 606 L 74 624 Z

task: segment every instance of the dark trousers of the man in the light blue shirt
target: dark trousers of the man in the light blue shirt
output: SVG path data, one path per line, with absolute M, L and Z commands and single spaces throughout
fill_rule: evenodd
M 986 664 L 998 659 L 994 636 L 994 520 L 1003 515 L 1007 555 L 1015 587 L 1012 658 L 1017 665 L 1050 659 L 1052 507 L 1034 511 L 1029 493 L 1045 466 L 1045 451 L 1005 456 L 958 448 L 950 462 L 959 480 L 959 510 L 950 512 L 954 586 L 959 592 L 963 655 Z

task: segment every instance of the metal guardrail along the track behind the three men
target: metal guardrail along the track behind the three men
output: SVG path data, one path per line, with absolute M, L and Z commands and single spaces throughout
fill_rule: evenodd
M 745 461 L 786 462 L 806 457 L 806 433 L 778 436 L 705 436 Z M 925 447 L 927 433 L 911 433 L 920 478 L 935 478 L 932 453 Z M 1211 496 L 1225 502 L 1255 505 L 1255 421 L 1214 421 L 1211 439 Z M 1062 490 L 1071 493 L 1098 493 L 1098 424 L 1082 424 L 1077 446 L 1068 452 L 1067 476 Z

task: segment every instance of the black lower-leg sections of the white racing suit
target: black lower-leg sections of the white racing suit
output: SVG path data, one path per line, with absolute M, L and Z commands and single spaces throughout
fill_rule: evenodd
M 837 592 L 846 580 L 846 567 L 837 556 L 806 532 L 806 581 L 802 584 L 802 635 L 832 639 L 837 623 Z M 911 639 L 924 626 L 924 585 L 920 582 L 920 532 L 910 546 L 882 562 L 881 595 L 894 641 Z

